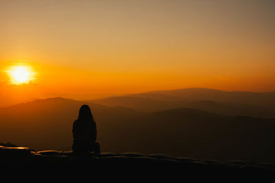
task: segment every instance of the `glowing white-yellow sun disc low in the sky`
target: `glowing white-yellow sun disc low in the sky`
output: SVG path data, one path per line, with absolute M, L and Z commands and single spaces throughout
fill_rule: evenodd
M 32 72 L 27 66 L 14 66 L 9 73 L 12 84 L 23 84 L 32 80 Z

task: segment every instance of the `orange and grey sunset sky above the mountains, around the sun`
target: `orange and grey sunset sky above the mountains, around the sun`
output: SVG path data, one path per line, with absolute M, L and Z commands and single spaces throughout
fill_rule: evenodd
M 1 0 L 0 107 L 190 87 L 273 91 L 274 10 L 273 0 Z M 18 66 L 28 82 L 12 82 Z

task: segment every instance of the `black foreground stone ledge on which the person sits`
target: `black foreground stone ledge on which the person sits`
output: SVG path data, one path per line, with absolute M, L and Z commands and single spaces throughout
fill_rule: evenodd
M 72 151 L 34 151 L 27 147 L 0 146 L 1 178 L 75 178 L 95 175 L 105 178 L 115 175 L 129 182 L 152 175 L 154 178 L 177 177 L 226 180 L 271 180 L 275 177 L 275 163 L 232 160 L 195 160 L 170 157 L 164 154 L 73 154 Z M 111 173 L 111 174 L 110 174 Z M 102 177 L 102 178 L 104 178 Z M 114 177 L 113 177 L 114 178 Z

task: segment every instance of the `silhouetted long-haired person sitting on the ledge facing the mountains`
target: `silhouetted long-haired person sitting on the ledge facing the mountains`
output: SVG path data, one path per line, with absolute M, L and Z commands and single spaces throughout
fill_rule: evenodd
M 96 143 L 96 122 L 89 106 L 81 106 L 78 119 L 73 124 L 74 143 L 72 149 L 76 153 L 89 153 L 94 151 L 100 153 L 100 145 Z

